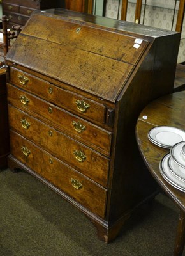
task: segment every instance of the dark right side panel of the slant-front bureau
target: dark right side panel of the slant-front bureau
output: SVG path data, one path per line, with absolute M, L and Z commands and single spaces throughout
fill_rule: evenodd
M 172 93 L 178 44 L 178 35 L 158 38 L 116 102 L 115 159 L 108 202 L 111 222 L 131 212 L 156 191 L 156 183 L 138 151 L 135 125 L 140 111 L 151 100 Z

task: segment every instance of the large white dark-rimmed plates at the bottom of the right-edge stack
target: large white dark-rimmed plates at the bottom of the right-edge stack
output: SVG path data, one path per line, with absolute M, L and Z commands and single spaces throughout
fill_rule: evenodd
M 174 188 L 177 188 L 182 192 L 185 192 L 185 182 L 183 182 L 180 179 L 177 179 L 174 175 L 172 175 L 172 172 L 170 171 L 170 168 L 168 166 L 169 157 L 170 154 L 166 154 L 159 163 L 159 170 L 161 172 L 161 175 Z

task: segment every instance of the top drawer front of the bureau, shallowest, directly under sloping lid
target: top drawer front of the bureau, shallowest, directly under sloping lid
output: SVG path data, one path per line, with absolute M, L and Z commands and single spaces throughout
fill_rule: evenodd
M 63 90 L 16 68 L 11 68 L 10 70 L 10 81 L 25 90 L 49 99 L 50 102 L 56 102 L 65 109 L 70 109 L 74 113 L 83 116 L 83 118 L 101 123 L 105 122 L 106 108 L 103 104 L 98 104 L 93 100 L 88 100 L 80 95 Z

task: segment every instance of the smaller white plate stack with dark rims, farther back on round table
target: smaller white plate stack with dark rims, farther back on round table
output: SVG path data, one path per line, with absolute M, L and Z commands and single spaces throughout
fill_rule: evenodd
M 185 141 L 185 131 L 170 126 L 158 126 L 149 131 L 148 138 L 159 147 L 171 148 L 176 143 Z

